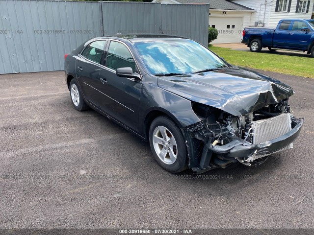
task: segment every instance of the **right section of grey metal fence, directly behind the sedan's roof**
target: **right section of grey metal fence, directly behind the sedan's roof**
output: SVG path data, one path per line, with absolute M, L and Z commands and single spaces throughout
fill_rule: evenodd
M 104 35 L 156 33 L 208 45 L 209 5 L 102 2 Z

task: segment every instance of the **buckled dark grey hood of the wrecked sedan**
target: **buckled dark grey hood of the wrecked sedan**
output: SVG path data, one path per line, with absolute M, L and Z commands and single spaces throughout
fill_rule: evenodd
M 158 77 L 157 82 L 166 91 L 234 116 L 246 115 L 294 94 L 291 87 L 276 79 L 238 67 Z

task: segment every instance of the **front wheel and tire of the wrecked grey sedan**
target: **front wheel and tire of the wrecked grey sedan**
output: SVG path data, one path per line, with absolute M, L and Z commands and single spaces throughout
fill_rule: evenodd
M 165 170 L 178 173 L 188 168 L 183 134 L 172 119 L 160 116 L 153 120 L 149 142 L 154 158 Z

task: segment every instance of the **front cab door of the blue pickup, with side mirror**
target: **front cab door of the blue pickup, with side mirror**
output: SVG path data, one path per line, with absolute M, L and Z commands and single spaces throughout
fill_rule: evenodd
M 291 38 L 292 44 L 291 47 L 296 49 L 307 50 L 313 32 L 311 30 L 309 31 L 301 30 L 302 27 L 310 29 L 308 24 L 306 24 L 305 22 L 302 21 L 293 22 L 291 34 L 289 36 Z

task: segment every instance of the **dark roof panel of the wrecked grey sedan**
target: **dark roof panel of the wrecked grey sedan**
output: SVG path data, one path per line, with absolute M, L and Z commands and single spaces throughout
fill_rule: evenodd
M 105 39 L 105 38 L 112 38 L 112 39 L 118 39 L 118 40 L 122 39 L 123 41 L 126 40 L 132 43 L 187 39 L 180 36 L 164 35 L 164 34 L 115 34 L 115 35 L 98 37 L 97 39 Z

